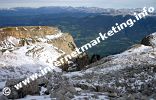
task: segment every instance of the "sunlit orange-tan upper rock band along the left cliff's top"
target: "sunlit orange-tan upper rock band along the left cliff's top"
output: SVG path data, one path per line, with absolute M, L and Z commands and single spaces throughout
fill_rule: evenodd
M 44 37 L 45 35 L 54 35 L 59 33 L 58 28 L 48 26 L 24 26 L 24 27 L 7 27 L 0 29 L 0 39 L 7 36 L 15 38 L 35 38 L 35 36 Z

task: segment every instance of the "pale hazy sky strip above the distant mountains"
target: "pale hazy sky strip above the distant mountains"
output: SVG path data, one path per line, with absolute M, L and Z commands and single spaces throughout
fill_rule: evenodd
M 143 8 L 156 7 L 156 0 L 0 0 L 0 8 L 43 6 Z

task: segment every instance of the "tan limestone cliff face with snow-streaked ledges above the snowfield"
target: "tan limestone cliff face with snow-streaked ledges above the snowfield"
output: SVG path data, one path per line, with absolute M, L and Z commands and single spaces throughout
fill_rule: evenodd
M 9 37 L 19 39 L 17 44 L 11 44 L 10 41 L 7 41 L 10 46 L 24 46 L 36 42 L 46 42 L 58 47 L 67 54 L 71 53 L 76 47 L 74 40 L 69 33 L 61 33 L 61 31 L 55 27 L 24 26 L 1 28 L 0 41 L 8 40 Z M 0 45 L 7 47 L 7 45 L 2 42 Z

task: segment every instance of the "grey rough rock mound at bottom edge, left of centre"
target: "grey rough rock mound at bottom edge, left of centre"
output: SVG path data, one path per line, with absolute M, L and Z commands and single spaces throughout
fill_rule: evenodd
M 57 100 L 71 100 L 77 94 L 76 89 L 69 83 L 68 79 L 58 73 L 51 73 L 47 89 L 51 98 Z

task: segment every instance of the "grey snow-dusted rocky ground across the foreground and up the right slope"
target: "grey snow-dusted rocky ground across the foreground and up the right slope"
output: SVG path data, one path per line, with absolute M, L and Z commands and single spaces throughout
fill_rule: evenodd
M 145 37 L 141 44 L 134 45 L 123 53 L 111 55 L 84 66 L 81 71 L 48 73 L 45 77 L 32 82 L 30 86 L 23 87 L 20 91 L 13 89 L 10 96 L 1 96 L 1 98 L 4 100 L 7 98 L 19 100 L 155 100 L 155 40 L 156 33 L 153 33 Z M 4 64 L 1 72 L 3 72 L 2 69 L 4 69 Z M 5 71 L 7 71 L 6 68 Z M 11 79 L 4 83 L 6 80 L 3 79 L 1 83 L 12 86 L 21 80 L 20 78 Z

